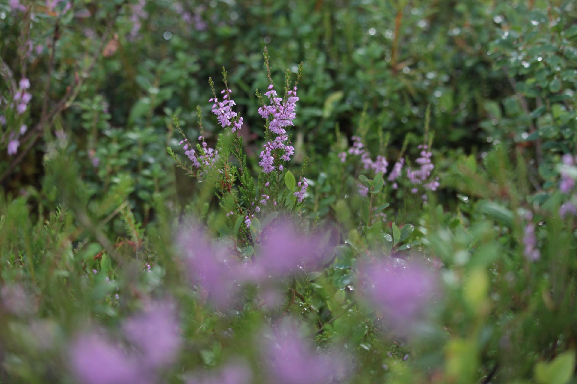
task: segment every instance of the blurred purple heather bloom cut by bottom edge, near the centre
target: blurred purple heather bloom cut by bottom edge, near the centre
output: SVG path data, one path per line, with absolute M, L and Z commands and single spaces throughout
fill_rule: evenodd
M 325 384 L 343 381 L 347 364 L 342 356 L 316 352 L 292 325 L 282 326 L 264 348 L 267 375 L 276 384 Z

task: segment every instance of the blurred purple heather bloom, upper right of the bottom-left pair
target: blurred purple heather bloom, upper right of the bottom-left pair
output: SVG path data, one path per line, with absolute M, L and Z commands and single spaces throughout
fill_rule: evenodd
M 153 367 L 166 367 L 174 362 L 181 346 L 178 327 L 178 317 L 170 302 L 152 303 L 123 325 L 126 337 Z

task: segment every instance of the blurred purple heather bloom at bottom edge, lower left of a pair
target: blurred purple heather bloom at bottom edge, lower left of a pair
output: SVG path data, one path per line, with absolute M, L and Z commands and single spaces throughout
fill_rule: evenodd
M 74 376 L 83 384 L 148 383 L 137 360 L 100 334 L 80 335 L 70 347 L 68 359 Z

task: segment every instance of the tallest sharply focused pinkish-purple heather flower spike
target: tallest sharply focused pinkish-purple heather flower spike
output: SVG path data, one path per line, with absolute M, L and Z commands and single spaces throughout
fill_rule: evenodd
M 258 108 L 258 114 L 267 120 L 268 130 L 271 131 L 275 138 L 267 141 L 263 145 L 263 151 L 260 153 L 261 161 L 258 163 L 263 167 L 264 173 L 272 172 L 275 169 L 275 150 L 282 151 L 280 159 L 284 162 L 290 161 L 294 155 L 294 147 L 288 139 L 286 128 L 294 126 L 293 120 L 297 116 L 297 86 L 287 91 L 287 96 L 284 98 L 278 97 L 273 85 L 268 86 L 268 91 L 265 93 L 270 100 L 269 105 L 263 105 Z M 283 170 L 283 165 L 279 165 L 279 170 Z

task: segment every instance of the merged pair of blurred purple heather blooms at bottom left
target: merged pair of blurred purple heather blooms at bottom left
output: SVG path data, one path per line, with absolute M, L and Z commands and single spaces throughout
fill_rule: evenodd
M 126 348 L 99 332 L 82 333 L 69 348 L 70 370 L 83 384 L 141 384 L 174 363 L 181 347 L 177 313 L 170 302 L 149 303 L 123 323 Z

